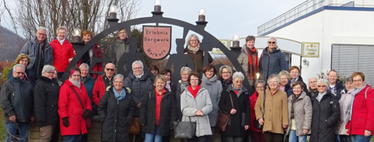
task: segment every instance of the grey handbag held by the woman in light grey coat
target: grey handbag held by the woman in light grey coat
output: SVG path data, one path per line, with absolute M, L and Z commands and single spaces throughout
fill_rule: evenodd
M 191 117 L 188 117 L 189 122 L 181 122 L 182 115 L 183 113 L 181 113 L 177 122 L 173 122 L 174 138 L 193 138 L 196 131 L 196 122 L 191 122 Z

